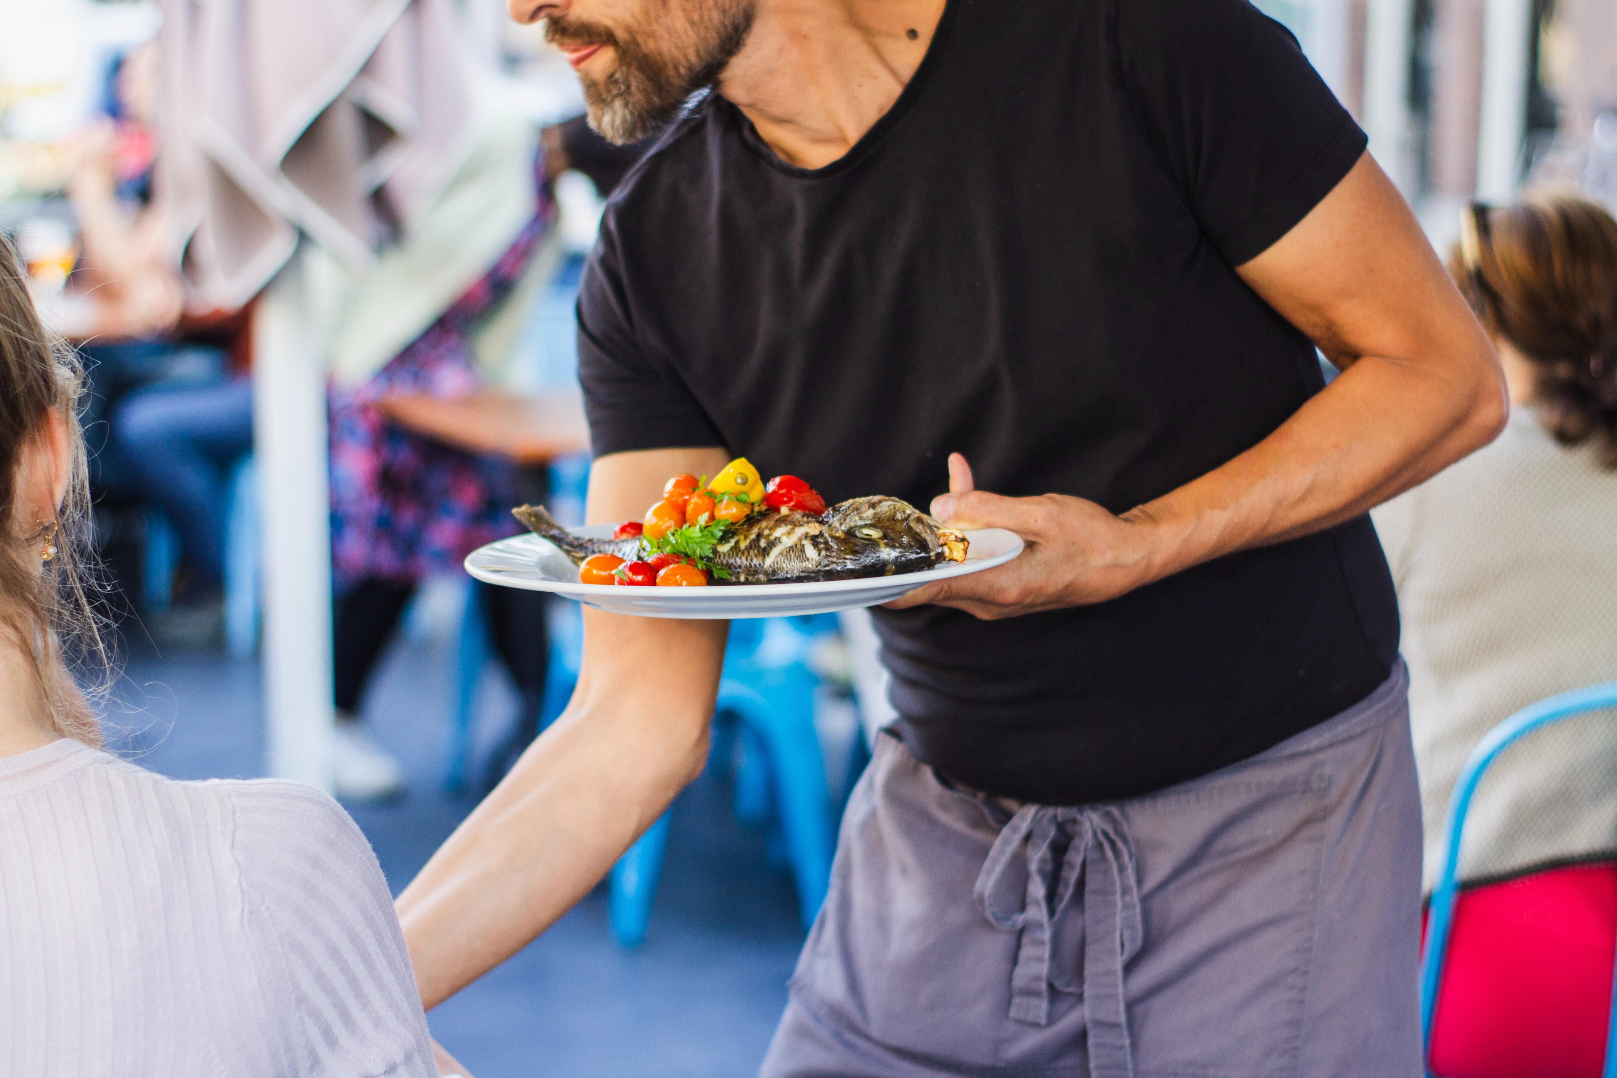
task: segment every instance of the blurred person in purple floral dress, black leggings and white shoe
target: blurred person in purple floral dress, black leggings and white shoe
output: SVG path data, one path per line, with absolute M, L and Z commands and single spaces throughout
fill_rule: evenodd
M 535 157 L 535 213 L 488 273 L 414 343 L 357 386 L 333 383 L 331 572 L 335 619 L 335 768 L 338 794 L 378 800 L 404 789 L 403 766 L 361 721 L 361 701 L 409 600 L 430 572 L 458 571 L 467 553 L 519 530 L 511 506 L 542 499 L 538 477 L 411 425 L 422 398 L 454 401 L 485 391 L 475 362 L 482 323 L 513 297 L 556 221 L 551 184 L 576 168 L 611 194 L 644 144 L 611 145 L 581 121 L 542 131 Z M 398 404 L 407 402 L 406 407 Z M 548 642 L 543 596 L 480 588 L 495 651 L 519 695 L 509 735 L 495 750 L 493 785 L 538 732 Z

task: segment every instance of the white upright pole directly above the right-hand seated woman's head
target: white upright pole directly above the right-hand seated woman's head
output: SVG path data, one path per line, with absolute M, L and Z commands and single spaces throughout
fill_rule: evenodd
M 1476 197 L 1509 202 L 1526 136 L 1531 0 L 1488 0 L 1483 15 L 1483 107 L 1476 137 Z

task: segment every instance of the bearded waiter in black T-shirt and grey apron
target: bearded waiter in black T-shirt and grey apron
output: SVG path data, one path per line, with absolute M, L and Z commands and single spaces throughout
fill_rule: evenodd
M 589 519 L 731 454 L 828 501 L 923 501 L 948 462 L 933 512 L 1027 541 L 876 611 L 899 719 L 763 1073 L 1418 1075 L 1365 511 L 1507 406 L 1295 40 L 1245 0 L 513 13 L 603 134 L 671 124 L 579 302 Z M 703 764 L 724 625 L 585 625 L 566 714 L 399 899 L 429 1007 Z

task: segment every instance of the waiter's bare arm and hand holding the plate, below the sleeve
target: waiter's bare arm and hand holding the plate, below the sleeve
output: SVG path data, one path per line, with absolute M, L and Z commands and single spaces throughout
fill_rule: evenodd
M 1290 233 L 1237 273 L 1344 373 L 1273 435 L 1156 501 L 1112 516 L 1082 498 L 972 490 L 951 457 L 933 512 L 1022 535 L 1015 561 L 917 588 L 978 617 L 1100 603 L 1190 566 L 1365 512 L 1491 441 L 1509 409 L 1488 338 L 1404 199 L 1365 154 Z

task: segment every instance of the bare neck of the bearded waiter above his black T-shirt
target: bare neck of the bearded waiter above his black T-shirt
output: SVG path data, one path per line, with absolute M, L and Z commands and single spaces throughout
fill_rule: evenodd
M 747 44 L 718 92 L 783 162 L 823 168 L 893 108 L 927 55 L 943 5 L 758 0 Z

